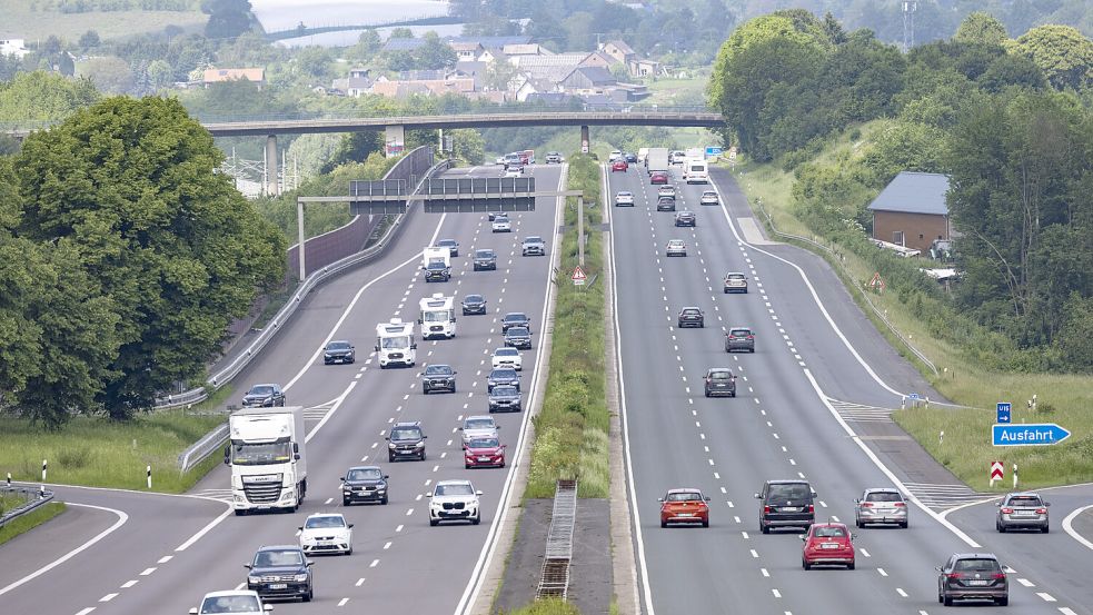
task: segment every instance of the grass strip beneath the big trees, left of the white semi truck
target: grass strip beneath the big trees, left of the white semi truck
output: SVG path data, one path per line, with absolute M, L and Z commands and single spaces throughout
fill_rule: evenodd
M 140 415 L 128 423 L 77 416 L 58 432 L 44 432 L 28 420 L 0 418 L 0 476 L 41 480 L 42 459 L 49 462 L 49 483 L 146 490 L 146 466 L 152 467 L 152 490 L 182 493 L 220 458 L 210 455 L 180 474 L 178 455 L 217 425 L 222 415 L 209 413 L 231 395 L 223 387 L 191 410 Z

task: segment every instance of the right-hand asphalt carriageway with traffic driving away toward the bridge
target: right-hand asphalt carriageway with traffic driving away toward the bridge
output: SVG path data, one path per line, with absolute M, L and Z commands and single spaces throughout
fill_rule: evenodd
M 941 517 L 937 510 L 982 496 L 890 418 L 902 394 L 941 396 L 884 341 L 818 258 L 768 245 L 757 230 L 744 237 L 756 227 L 727 171 L 713 175 L 723 204 L 714 207 L 698 204 L 707 187 L 687 187 L 673 170 L 679 208 L 697 212 L 695 229 L 675 228 L 673 214 L 656 211 L 656 187 L 640 167 L 605 173 L 608 198 L 630 190 L 636 201 L 610 208 L 610 261 L 647 614 L 938 613 L 934 566 L 954 552 L 992 549 L 1013 571 L 1015 612 L 1090 613 L 1093 588 L 1080 582 L 1087 566 L 1060 572 L 1046 555 L 1031 556 L 1070 540 L 1069 553 L 1087 564 L 1089 553 L 1079 550 L 1085 547 L 1066 534 L 1043 536 L 1050 542 L 1031 534 L 968 535 Z M 677 238 L 687 241 L 688 256 L 668 259 L 665 244 Z M 728 271 L 747 275 L 747 295 L 722 292 Z M 685 306 L 705 310 L 705 328 L 676 328 Z M 754 329 L 755 354 L 724 351 L 725 329 L 734 325 Z M 705 398 L 708 367 L 733 368 L 738 397 Z M 857 569 L 805 572 L 797 532 L 759 533 L 752 496 L 777 478 L 808 479 L 818 493 L 817 520 L 852 528 L 853 499 L 864 488 L 901 486 L 915 496 L 911 527 L 853 529 Z M 673 487 L 698 487 L 712 497 L 709 528 L 659 527 L 657 498 Z M 1065 512 L 1053 509 L 1056 525 Z

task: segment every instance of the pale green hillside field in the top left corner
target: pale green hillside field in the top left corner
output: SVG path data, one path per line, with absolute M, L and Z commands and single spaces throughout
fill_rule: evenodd
M 196 10 L 62 13 L 43 10 L 44 3 L 34 0 L 3 0 L 0 4 L 3 7 L 3 31 L 0 33 L 26 39 L 28 46 L 39 39 L 44 41 L 50 34 L 76 42 L 88 30 L 98 32 L 102 40 L 162 32 L 170 24 L 187 31 L 201 31 L 209 20 L 209 16 Z

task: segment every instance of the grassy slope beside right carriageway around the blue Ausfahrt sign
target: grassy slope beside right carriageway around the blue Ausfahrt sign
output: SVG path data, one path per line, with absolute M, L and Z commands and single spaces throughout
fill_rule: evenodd
M 864 150 L 870 135 L 881 126 L 871 122 L 861 130 L 861 141 L 852 142 L 846 135 L 829 145 L 817 157 L 821 162 L 834 160 L 836 156 L 857 156 Z M 848 131 L 847 133 L 852 133 Z M 776 163 L 737 165 L 744 170 L 737 181 L 748 195 L 753 207 L 761 200 L 763 207 L 774 218 L 777 228 L 784 232 L 813 237 L 822 244 L 828 241 L 817 238 L 804 222 L 794 216 L 792 187 L 794 177 Z M 764 218 L 757 212 L 758 218 Z M 807 247 L 807 246 L 806 246 Z M 902 341 L 893 336 L 876 318 L 861 298 L 866 282 L 875 267 L 844 246 L 837 247 L 845 255 L 846 274 L 841 272 L 851 294 L 863 306 L 863 310 L 877 328 L 885 334 L 893 346 L 905 356 L 910 353 Z M 817 250 L 818 251 L 818 250 Z M 827 257 L 827 255 L 823 255 Z M 894 257 L 893 257 L 894 258 Z M 836 267 L 836 270 L 839 270 Z M 1021 485 L 1036 488 L 1051 485 L 1083 483 L 1093 477 L 1093 421 L 1090 421 L 1090 406 L 1093 401 L 1093 378 L 1089 376 L 1060 374 L 1022 374 L 998 371 L 987 368 L 975 358 L 975 349 L 958 346 L 931 331 L 931 324 L 921 315 L 921 304 L 915 299 L 900 296 L 898 292 L 871 295 L 878 309 L 886 313 L 893 326 L 925 354 L 941 373 L 938 376 L 922 367 L 923 375 L 945 397 L 971 408 L 945 408 L 932 406 L 913 410 L 897 411 L 896 423 L 918 440 L 931 455 L 944 464 L 968 486 L 988 490 L 987 473 L 994 459 L 1006 463 L 1006 482 L 994 490 L 1012 487 L 1010 466 L 1017 464 Z M 1026 409 L 1026 400 L 1033 395 L 1039 398 L 1039 409 Z M 1014 423 L 1057 423 L 1072 432 L 1067 442 L 1050 447 L 995 448 L 991 445 L 991 425 L 994 423 L 994 405 L 997 401 L 1013 403 Z M 943 442 L 938 434 L 945 433 Z

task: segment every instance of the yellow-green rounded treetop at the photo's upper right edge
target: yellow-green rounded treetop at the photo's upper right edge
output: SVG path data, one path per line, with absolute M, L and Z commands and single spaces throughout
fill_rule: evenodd
M 1069 26 L 1040 26 L 1013 41 L 1011 49 L 1032 59 L 1056 89 L 1093 87 L 1093 40 Z

